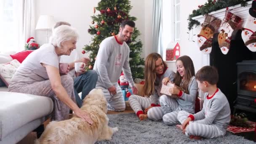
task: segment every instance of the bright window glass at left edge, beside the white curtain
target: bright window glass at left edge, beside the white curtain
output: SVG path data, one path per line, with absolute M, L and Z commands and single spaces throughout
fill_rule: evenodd
M 15 51 L 13 38 L 14 28 L 13 0 L 0 0 L 0 52 Z

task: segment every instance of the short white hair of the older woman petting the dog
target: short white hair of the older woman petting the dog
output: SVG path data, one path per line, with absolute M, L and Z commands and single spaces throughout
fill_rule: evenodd
M 54 46 L 61 47 L 62 42 L 72 39 L 78 39 L 77 30 L 71 26 L 61 25 L 53 29 L 50 37 L 50 43 Z

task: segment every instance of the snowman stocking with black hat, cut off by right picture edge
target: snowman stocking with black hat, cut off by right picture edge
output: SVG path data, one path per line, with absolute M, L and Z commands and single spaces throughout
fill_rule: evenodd
M 241 36 L 242 36 L 242 39 L 243 39 L 243 42 L 244 43 L 247 43 L 247 41 L 249 39 L 253 39 L 254 36 L 253 35 L 253 32 L 256 31 L 256 0 L 253 0 L 253 3 L 251 5 L 251 8 L 249 9 L 248 11 L 248 17 L 247 17 L 247 20 L 245 22 L 245 26 L 242 28 L 242 33 L 241 33 Z M 251 37 L 252 36 L 252 37 Z M 250 41 L 251 42 L 251 41 Z M 250 43 L 248 42 L 248 43 Z M 247 44 L 248 44 L 247 43 Z M 246 45 L 246 44 L 245 44 Z M 249 48 L 250 51 L 253 50 L 253 47 L 250 46 L 250 44 L 246 45 L 247 48 Z M 254 48 L 255 49 L 255 48 Z M 255 50 L 254 50 L 255 51 Z M 253 52 L 254 52 L 253 51 Z

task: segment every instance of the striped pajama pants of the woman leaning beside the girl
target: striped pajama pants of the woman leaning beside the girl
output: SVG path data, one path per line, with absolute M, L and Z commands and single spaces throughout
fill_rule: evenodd
M 137 114 L 137 112 L 140 110 L 144 111 L 144 109 L 151 105 L 150 98 L 138 95 L 131 95 L 129 97 L 129 103 L 135 114 Z M 163 111 L 161 107 L 150 108 L 147 112 L 147 117 L 151 120 L 161 120 L 163 117 Z

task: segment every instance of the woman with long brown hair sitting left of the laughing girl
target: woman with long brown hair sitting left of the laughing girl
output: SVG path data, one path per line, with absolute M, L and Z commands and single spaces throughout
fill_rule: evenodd
M 175 73 L 168 69 L 158 53 L 151 53 L 147 56 L 144 68 L 145 84 L 143 87 L 144 96 L 131 95 L 129 103 L 140 120 L 147 117 L 152 120 L 160 120 L 163 111 L 159 105 L 158 98 L 163 84 L 173 81 Z M 144 110 L 144 111 L 143 111 Z

